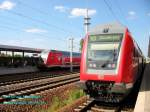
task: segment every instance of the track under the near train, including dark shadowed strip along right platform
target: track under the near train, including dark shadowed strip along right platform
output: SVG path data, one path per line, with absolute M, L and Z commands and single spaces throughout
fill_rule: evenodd
M 132 92 L 120 103 L 98 102 L 87 98 L 75 112 L 133 112 L 141 82 L 138 81 Z

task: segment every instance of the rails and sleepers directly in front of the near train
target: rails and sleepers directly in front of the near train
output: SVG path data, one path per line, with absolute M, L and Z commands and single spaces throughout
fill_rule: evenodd
M 128 104 L 108 104 L 88 99 L 74 109 L 75 112 L 133 112 L 134 107 Z

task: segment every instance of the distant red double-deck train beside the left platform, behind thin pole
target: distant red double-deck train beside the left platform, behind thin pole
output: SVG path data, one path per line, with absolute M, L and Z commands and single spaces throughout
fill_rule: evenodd
M 44 50 L 41 53 L 42 61 L 39 64 L 40 68 L 50 67 L 70 67 L 70 52 L 57 50 Z M 73 66 L 80 65 L 81 54 L 73 52 L 72 64 Z

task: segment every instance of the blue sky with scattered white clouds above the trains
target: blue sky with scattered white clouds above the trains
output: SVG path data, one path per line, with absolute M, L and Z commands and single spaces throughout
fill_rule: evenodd
M 86 8 L 90 28 L 117 21 L 147 56 L 149 0 L 0 0 L 0 44 L 68 51 L 74 38 L 74 51 L 79 51 Z

